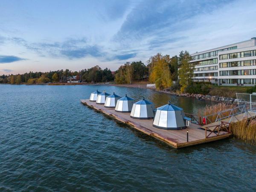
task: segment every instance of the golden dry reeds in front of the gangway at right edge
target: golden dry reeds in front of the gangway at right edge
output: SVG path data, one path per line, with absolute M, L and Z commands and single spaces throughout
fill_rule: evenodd
M 232 134 L 238 139 L 244 140 L 247 143 L 256 143 L 256 119 L 231 123 L 230 129 Z

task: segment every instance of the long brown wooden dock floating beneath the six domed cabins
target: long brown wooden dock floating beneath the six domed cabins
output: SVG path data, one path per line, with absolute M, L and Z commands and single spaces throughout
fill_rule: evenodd
M 215 140 L 221 140 L 231 135 L 230 130 L 225 126 L 218 129 L 218 133 L 201 128 L 201 125 L 191 123 L 189 127 L 183 130 L 163 130 L 153 127 L 153 119 L 133 119 L 130 113 L 116 112 L 114 108 L 105 108 L 104 105 L 90 102 L 89 99 L 83 99 L 81 102 L 89 108 L 101 111 L 115 119 L 133 126 L 135 129 L 161 140 L 174 148 L 182 148 L 190 145 L 207 143 Z M 187 131 L 189 132 L 189 141 L 187 142 Z

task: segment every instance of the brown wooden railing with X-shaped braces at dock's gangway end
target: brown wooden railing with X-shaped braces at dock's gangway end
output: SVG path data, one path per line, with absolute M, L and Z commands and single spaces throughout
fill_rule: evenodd
M 209 138 L 211 134 L 215 134 L 211 137 L 219 136 L 219 135 L 221 135 L 220 131 L 226 131 L 227 133 L 230 133 L 229 125 L 230 125 L 229 122 L 221 121 L 221 124 L 205 127 L 205 138 L 206 139 Z M 209 131 L 210 133 L 208 132 L 208 134 L 207 134 L 207 131 Z

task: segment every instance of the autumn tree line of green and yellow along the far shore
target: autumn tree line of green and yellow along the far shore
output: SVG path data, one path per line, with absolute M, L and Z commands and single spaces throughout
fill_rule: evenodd
M 76 76 L 76 80 L 84 82 L 108 82 L 115 81 L 117 84 L 131 84 L 133 81 L 148 80 L 155 83 L 158 90 L 171 88 L 186 92 L 186 89 L 193 89 L 194 67 L 189 63 L 191 56 L 187 51 L 181 51 L 179 56 L 162 55 L 157 53 L 151 56 L 147 65 L 142 61 L 126 62 L 121 65 L 115 74 L 110 69 L 104 70 L 97 66 L 80 71 L 57 70 L 46 73 L 29 72 L 18 75 L 2 75 L 0 83 L 10 84 L 35 84 L 47 82 L 66 82 L 68 76 Z M 178 78 L 179 77 L 179 78 Z

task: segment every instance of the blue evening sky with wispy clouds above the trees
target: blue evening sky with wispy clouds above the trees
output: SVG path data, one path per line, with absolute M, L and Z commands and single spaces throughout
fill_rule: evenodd
M 0 0 L 0 75 L 117 70 L 256 37 L 255 0 Z

